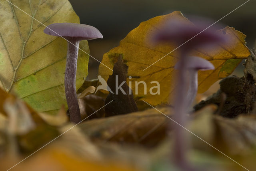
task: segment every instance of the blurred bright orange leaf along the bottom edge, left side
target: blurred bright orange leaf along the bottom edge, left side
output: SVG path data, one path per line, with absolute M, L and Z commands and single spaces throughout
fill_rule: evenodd
M 24 158 L 21 158 L 22 160 Z M 143 171 L 120 161 L 97 161 L 91 156 L 81 157 L 72 150 L 63 147 L 46 147 L 35 153 L 29 160 L 16 165 L 14 171 Z M 18 163 L 12 158 L 0 161 L 1 169 L 7 170 Z

